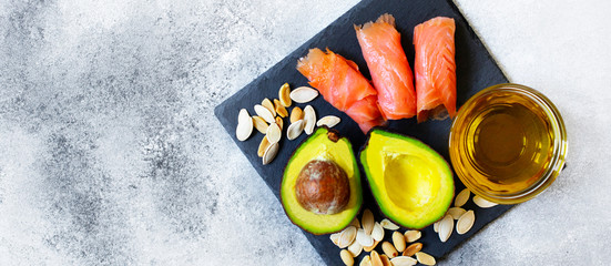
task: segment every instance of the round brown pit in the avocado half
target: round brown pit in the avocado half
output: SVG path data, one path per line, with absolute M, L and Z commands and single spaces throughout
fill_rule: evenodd
M 315 214 L 336 214 L 350 198 L 346 172 L 333 161 L 312 160 L 299 172 L 295 184 L 297 202 Z

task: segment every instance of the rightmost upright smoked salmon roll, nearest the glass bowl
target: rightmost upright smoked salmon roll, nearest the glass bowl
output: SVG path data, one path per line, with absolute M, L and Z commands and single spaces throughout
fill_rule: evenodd
M 437 17 L 414 29 L 418 122 L 456 115 L 454 19 Z

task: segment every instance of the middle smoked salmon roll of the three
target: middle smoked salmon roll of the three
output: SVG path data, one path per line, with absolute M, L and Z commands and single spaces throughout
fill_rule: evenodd
M 355 25 L 355 31 L 384 117 L 399 120 L 416 115 L 414 75 L 401 47 L 401 35 L 395 29 L 395 18 L 386 13 L 376 22 Z

